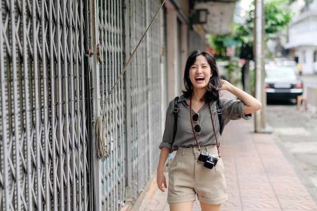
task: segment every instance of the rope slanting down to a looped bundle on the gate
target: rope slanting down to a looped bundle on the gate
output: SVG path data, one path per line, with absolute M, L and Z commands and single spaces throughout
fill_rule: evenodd
M 97 156 L 99 159 L 104 160 L 105 158 L 109 157 L 109 151 L 107 150 L 107 146 L 106 146 L 106 102 L 108 101 L 109 97 L 111 94 L 113 94 L 114 88 L 116 87 L 116 85 L 118 84 L 119 80 L 121 79 L 121 77 L 123 76 L 123 74 L 125 73 L 129 63 L 132 60 L 132 57 L 134 56 L 135 52 L 137 51 L 137 49 L 139 48 L 142 40 L 144 39 L 147 31 L 149 30 L 149 28 L 151 27 L 152 23 L 154 22 L 156 16 L 159 14 L 159 12 L 161 11 L 161 9 L 163 8 L 163 5 L 165 3 L 166 0 L 164 0 L 162 2 L 161 7 L 159 8 L 159 10 L 157 10 L 157 12 L 155 13 L 153 19 L 151 20 L 150 24 L 148 25 L 147 29 L 145 30 L 142 38 L 140 39 L 138 45 L 136 46 L 136 48 L 134 49 L 134 51 L 132 52 L 128 62 L 126 63 L 126 65 L 124 66 L 122 72 L 120 73 L 118 79 L 115 81 L 112 89 L 110 90 L 110 92 L 108 93 L 107 98 L 105 99 L 105 101 L 103 102 L 103 115 L 100 115 L 97 120 L 96 120 L 96 148 L 97 148 Z

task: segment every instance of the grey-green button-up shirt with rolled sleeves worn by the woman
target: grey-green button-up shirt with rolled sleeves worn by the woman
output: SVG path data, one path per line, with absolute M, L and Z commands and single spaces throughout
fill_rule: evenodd
M 160 149 L 162 147 L 168 147 L 170 152 L 176 151 L 178 147 L 197 147 L 196 139 L 191 126 L 192 115 L 195 114 L 195 111 L 189 111 L 190 105 L 188 105 L 184 95 L 181 95 L 178 99 L 178 115 L 177 115 L 177 130 L 175 140 L 173 140 L 174 135 L 174 99 L 169 103 L 169 107 L 166 112 L 166 122 L 165 130 L 163 134 L 163 141 L 160 144 Z M 221 121 L 226 125 L 230 120 L 244 118 L 246 120 L 252 117 L 252 114 L 244 114 L 243 107 L 244 102 L 240 100 L 232 100 L 226 97 L 220 98 L 220 106 L 222 109 Z M 213 114 L 213 119 L 215 122 L 215 131 L 217 134 L 217 140 L 220 142 L 221 135 L 219 133 L 220 124 L 217 114 L 216 102 L 211 103 L 211 109 Z M 210 115 L 209 104 L 205 103 L 203 107 L 198 111 L 199 114 L 199 124 L 201 126 L 201 133 L 196 133 L 197 140 L 199 145 L 207 146 L 211 144 L 216 144 L 215 133 L 212 125 L 212 119 Z M 193 121 L 193 126 L 197 122 Z

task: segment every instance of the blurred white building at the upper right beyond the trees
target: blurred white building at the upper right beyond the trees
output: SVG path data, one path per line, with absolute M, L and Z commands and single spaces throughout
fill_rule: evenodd
M 302 6 L 300 1 L 293 4 L 294 9 Z M 289 25 L 289 40 L 284 47 L 290 50 L 290 58 L 298 59 L 303 65 L 303 73 L 317 73 L 317 0 L 293 19 Z

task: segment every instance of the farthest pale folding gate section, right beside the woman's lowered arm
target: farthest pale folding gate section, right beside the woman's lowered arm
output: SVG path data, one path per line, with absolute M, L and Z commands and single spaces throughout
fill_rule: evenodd
M 161 1 L 126 1 L 126 53 L 136 48 Z M 161 11 L 163 13 L 163 11 Z M 152 175 L 161 142 L 161 19 L 157 18 L 140 45 L 126 75 L 127 197 L 135 200 Z M 127 28 L 125 30 L 127 32 Z M 129 55 L 129 54 L 128 54 Z

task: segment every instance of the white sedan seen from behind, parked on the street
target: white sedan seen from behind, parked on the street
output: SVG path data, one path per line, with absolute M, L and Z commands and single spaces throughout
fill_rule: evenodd
M 265 67 L 265 92 L 267 100 L 297 99 L 303 94 L 303 81 L 290 67 Z

